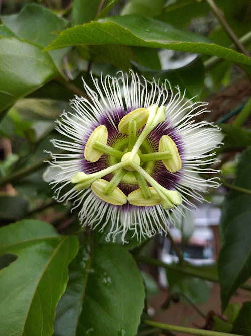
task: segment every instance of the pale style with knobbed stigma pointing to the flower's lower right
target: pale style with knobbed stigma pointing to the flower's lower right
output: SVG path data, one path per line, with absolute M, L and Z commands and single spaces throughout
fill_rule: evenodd
M 175 190 L 168 190 L 161 186 L 151 175 L 149 175 L 140 165 L 137 166 L 135 163 L 131 163 L 134 169 L 141 174 L 147 182 L 156 190 L 157 194 L 161 199 L 161 206 L 163 209 L 171 209 L 175 205 L 180 205 L 182 203 L 182 198 L 180 194 Z

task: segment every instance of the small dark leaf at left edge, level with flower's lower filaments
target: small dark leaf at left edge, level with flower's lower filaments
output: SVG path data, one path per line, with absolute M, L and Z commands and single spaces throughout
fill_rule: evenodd
M 25 217 L 29 203 L 18 196 L 0 196 L 0 221 L 15 221 Z

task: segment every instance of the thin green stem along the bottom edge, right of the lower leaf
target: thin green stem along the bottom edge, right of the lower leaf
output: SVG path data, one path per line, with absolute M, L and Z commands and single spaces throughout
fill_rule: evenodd
M 159 323 L 159 322 L 150 321 L 150 320 L 143 320 L 142 322 L 146 325 L 150 325 L 150 326 L 162 329 L 162 330 L 171 330 L 171 331 L 176 331 L 176 332 L 181 332 L 181 333 L 189 333 L 192 335 L 199 335 L 199 336 L 229 336 L 230 335 L 229 333 L 226 333 L 226 332 L 187 328 L 183 326 L 164 324 L 164 323 Z M 240 336 L 240 335 L 235 334 L 235 336 Z

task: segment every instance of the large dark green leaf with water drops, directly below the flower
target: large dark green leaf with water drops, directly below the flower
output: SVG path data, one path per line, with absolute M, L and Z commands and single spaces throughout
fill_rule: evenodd
M 92 256 L 80 250 L 58 304 L 55 336 L 134 336 L 143 306 L 142 277 L 122 246 L 101 245 Z

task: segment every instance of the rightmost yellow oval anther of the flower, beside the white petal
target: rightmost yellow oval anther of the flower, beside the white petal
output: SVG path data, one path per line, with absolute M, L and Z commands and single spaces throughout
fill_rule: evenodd
M 172 154 L 172 157 L 169 159 L 163 159 L 162 162 L 166 169 L 171 172 L 175 173 L 181 169 L 181 159 L 176 147 L 176 144 L 168 135 L 163 135 L 159 141 L 159 152 L 161 151 L 169 151 Z

